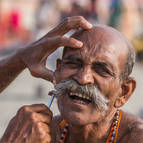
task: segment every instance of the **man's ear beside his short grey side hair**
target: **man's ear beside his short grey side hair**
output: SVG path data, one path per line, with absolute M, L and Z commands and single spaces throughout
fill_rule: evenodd
M 129 77 L 121 84 L 121 94 L 116 98 L 115 108 L 123 106 L 136 88 L 136 80 L 133 77 Z

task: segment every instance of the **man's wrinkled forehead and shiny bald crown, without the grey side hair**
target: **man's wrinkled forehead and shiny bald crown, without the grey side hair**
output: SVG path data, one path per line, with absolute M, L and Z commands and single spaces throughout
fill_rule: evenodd
M 79 30 L 72 37 L 83 42 L 83 48 L 78 49 L 76 54 L 83 59 L 85 64 L 94 61 L 104 61 L 110 64 L 118 75 L 123 67 L 128 49 L 121 34 L 106 26 L 95 26 L 91 30 Z M 69 49 L 74 51 L 75 49 Z M 67 50 L 67 51 L 68 51 Z M 75 55 L 75 54 L 74 54 Z M 118 69 L 118 70 L 117 70 Z

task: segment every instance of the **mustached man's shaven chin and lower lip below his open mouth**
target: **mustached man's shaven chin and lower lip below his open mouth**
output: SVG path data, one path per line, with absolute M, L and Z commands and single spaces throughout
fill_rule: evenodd
M 83 126 L 96 123 L 101 118 L 101 113 L 94 106 L 71 104 L 68 100 L 57 101 L 61 117 L 69 124 Z

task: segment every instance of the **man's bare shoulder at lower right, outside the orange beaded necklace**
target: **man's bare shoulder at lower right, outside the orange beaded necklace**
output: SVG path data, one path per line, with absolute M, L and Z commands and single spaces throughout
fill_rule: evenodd
M 123 112 L 119 130 L 119 143 L 143 143 L 143 120 L 140 118 Z

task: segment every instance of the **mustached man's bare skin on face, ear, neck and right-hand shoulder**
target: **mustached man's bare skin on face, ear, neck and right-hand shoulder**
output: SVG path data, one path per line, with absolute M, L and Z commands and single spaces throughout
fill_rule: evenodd
M 71 102 L 68 96 L 59 101 L 62 118 L 72 124 L 71 137 L 67 142 L 104 143 L 116 109 L 127 102 L 136 86 L 132 77 L 120 79 L 128 52 L 127 43 L 117 33 L 103 27 L 79 32 L 73 37 L 83 41 L 84 46 L 80 50 L 67 48 L 63 59 L 58 60 L 56 72 L 63 76 L 58 76 L 57 79 L 62 81 L 72 77 L 81 85 L 96 84 L 110 102 L 109 110 L 102 117 L 92 104 L 79 106 Z M 80 112 L 77 112 L 78 109 Z M 142 142 L 142 121 L 123 113 L 117 142 L 135 142 L 135 139 L 132 140 L 133 133 Z

